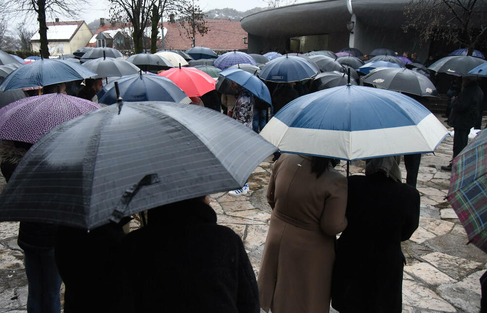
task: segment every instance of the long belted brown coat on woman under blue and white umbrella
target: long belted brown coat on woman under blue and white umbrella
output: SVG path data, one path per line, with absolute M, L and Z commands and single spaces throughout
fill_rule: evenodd
M 273 313 L 328 313 L 335 235 L 347 220 L 347 179 L 331 166 L 316 178 L 311 157 L 283 154 L 267 189 L 273 208 L 257 279 Z

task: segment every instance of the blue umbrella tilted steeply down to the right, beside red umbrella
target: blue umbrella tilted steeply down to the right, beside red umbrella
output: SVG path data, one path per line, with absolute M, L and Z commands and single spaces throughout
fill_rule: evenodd
M 272 105 L 269 89 L 257 76 L 241 69 L 222 70 L 220 75 L 239 84 L 257 98 Z

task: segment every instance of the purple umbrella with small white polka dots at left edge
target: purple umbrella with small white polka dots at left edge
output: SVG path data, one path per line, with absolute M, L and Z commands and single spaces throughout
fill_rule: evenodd
M 0 109 L 0 138 L 35 143 L 54 126 L 99 108 L 61 93 L 24 98 Z

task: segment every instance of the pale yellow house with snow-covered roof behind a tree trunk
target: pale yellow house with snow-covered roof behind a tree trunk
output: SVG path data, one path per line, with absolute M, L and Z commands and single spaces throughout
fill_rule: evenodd
M 49 54 L 57 56 L 61 54 L 71 54 L 81 47 L 86 46 L 92 32 L 85 21 L 60 22 L 56 18 L 55 22 L 47 22 L 47 40 Z M 40 36 L 37 32 L 31 37 L 30 44 L 32 51 L 40 49 Z

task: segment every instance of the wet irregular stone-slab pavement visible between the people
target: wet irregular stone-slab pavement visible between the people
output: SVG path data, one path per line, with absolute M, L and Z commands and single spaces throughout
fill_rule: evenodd
M 403 280 L 405 313 L 473 313 L 480 309 L 479 278 L 487 270 L 487 255 L 472 244 L 466 245 L 465 230 L 444 199 L 450 172 L 442 171 L 440 166 L 450 161 L 452 142 L 447 137 L 434 155 L 425 154 L 421 160 L 417 185 L 421 193 L 420 226 L 402 244 L 407 260 Z M 246 195 L 220 192 L 210 196 L 218 223 L 242 237 L 256 275 L 272 212 L 265 200 L 271 166 L 269 157 L 255 169 L 248 180 L 251 191 Z M 364 161 L 352 162 L 351 174 L 363 174 L 364 166 Z M 337 170 L 345 174 L 346 164 L 342 162 Z M 403 163 L 401 170 L 405 181 Z M 2 184 L 4 181 L 0 181 L 0 189 Z M 136 227 L 134 222 L 131 228 Z M 18 223 L 0 223 L 0 312 L 26 312 L 27 280 L 16 243 L 17 231 Z

